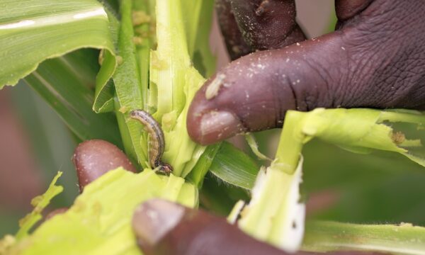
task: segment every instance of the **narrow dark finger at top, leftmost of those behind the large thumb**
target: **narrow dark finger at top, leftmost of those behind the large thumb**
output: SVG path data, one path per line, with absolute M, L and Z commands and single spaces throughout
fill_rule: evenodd
M 225 38 L 230 59 L 236 60 L 251 52 L 251 47 L 249 47 L 244 41 L 244 38 L 242 38 L 239 27 L 234 20 L 234 14 L 229 0 L 216 0 L 215 10 L 217 11 L 218 23 L 220 24 L 223 38 Z

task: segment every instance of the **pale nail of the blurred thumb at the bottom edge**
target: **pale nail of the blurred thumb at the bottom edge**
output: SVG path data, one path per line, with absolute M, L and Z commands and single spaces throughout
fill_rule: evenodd
M 132 217 L 137 241 L 145 248 L 156 245 L 179 224 L 184 212 L 183 206 L 166 200 L 154 199 L 142 203 Z

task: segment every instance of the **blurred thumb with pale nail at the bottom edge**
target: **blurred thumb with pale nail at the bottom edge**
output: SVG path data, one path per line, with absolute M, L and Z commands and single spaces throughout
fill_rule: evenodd
M 145 254 L 284 254 L 220 217 L 165 200 L 135 211 L 132 227 Z

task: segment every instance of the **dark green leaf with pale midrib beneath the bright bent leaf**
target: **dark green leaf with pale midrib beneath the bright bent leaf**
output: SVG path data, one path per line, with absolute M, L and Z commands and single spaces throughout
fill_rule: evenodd
M 70 68 L 69 57 L 58 57 L 42 62 L 25 81 L 60 115 L 80 140 L 103 139 L 122 147 L 115 116 L 96 114 L 91 110 L 93 91 L 84 84 L 79 72 Z M 86 57 L 72 60 L 79 66 Z M 84 66 L 84 64 L 82 64 Z M 94 81 L 94 72 L 91 81 Z

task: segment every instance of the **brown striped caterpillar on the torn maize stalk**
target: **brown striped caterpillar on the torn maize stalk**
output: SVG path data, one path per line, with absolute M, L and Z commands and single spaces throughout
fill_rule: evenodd
M 145 125 L 145 130 L 149 135 L 149 163 L 152 168 L 158 168 L 164 174 L 170 174 L 173 167 L 170 164 L 162 162 L 162 154 L 164 154 L 165 140 L 164 132 L 152 115 L 143 110 L 134 110 L 130 112 L 130 118 L 139 120 Z

